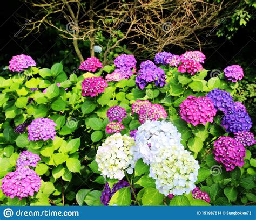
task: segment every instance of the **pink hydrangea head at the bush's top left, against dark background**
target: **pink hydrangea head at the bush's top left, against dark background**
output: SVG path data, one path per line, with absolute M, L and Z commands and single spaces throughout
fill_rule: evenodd
M 35 66 L 35 60 L 33 60 L 31 56 L 24 54 L 13 56 L 12 59 L 9 61 L 9 69 L 12 72 L 19 72 L 28 69 L 29 67 Z

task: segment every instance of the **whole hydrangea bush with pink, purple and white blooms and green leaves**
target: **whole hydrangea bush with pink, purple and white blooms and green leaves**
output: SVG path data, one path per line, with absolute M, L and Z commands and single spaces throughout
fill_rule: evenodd
M 252 120 L 233 98 L 246 71 L 211 77 L 205 62 L 122 54 L 70 74 L 14 56 L 0 77 L 1 205 L 255 202 Z

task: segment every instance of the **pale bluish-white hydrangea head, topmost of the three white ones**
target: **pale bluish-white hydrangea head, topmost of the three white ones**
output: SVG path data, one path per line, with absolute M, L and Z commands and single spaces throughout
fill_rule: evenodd
M 176 146 L 184 149 L 180 143 L 181 134 L 176 126 L 165 120 L 146 122 L 139 126 L 136 133 L 136 152 L 135 159 L 142 158 L 149 165 L 154 161 L 154 157 L 158 155 L 161 148 L 170 149 Z

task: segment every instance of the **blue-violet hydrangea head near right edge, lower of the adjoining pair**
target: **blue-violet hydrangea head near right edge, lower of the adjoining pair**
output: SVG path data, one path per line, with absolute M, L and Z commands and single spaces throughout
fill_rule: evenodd
M 250 131 L 252 127 L 252 120 L 245 111 L 231 110 L 223 117 L 221 126 L 225 127 L 227 133 Z

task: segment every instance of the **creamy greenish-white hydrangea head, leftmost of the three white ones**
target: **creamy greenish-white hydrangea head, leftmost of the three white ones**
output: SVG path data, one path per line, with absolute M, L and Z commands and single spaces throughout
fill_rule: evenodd
M 133 173 L 134 145 L 133 138 L 116 133 L 99 146 L 95 160 L 105 178 L 122 180 L 125 172 Z

